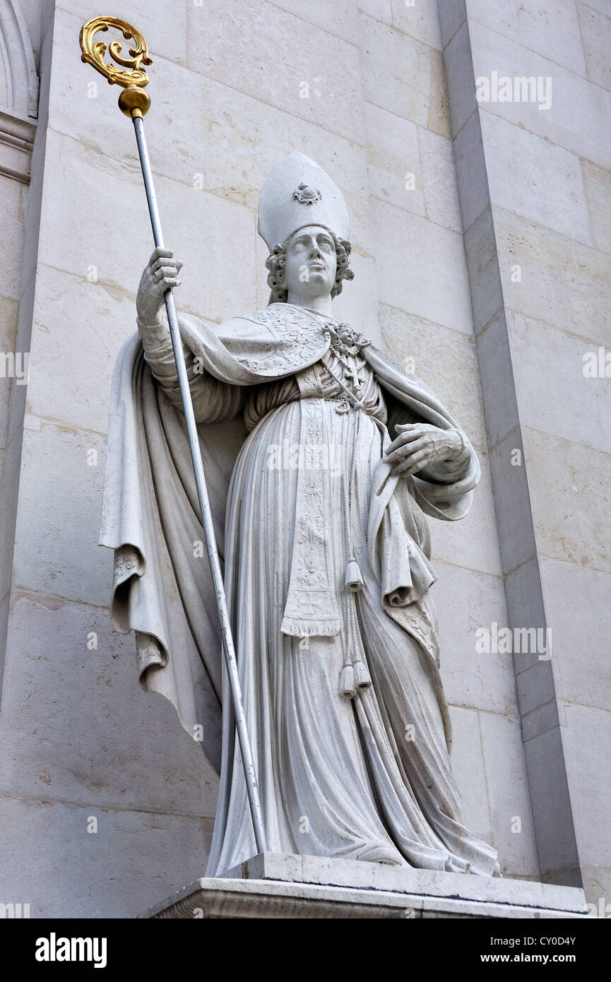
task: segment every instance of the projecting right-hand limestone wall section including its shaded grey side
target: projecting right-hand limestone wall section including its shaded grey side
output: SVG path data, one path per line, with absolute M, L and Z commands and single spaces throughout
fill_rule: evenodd
M 509 621 L 551 641 L 550 661 L 515 656 L 539 870 L 596 904 L 611 889 L 611 7 L 442 0 L 440 16 Z

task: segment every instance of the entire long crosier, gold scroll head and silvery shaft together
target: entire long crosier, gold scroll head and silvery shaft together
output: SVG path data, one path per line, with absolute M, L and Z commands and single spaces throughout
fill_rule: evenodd
M 98 30 L 108 30 L 109 27 L 116 27 L 118 30 L 122 31 L 123 36 L 126 39 L 133 38 L 134 40 L 134 47 L 129 48 L 128 51 L 129 57 L 121 54 L 121 44 L 119 41 L 111 41 L 111 43 L 108 45 L 109 54 L 118 65 L 122 66 L 121 69 L 116 68 L 112 62 L 108 65 L 104 63 L 106 44 L 101 40 L 93 40 L 93 37 Z M 143 88 L 144 85 L 148 84 L 148 77 L 143 70 L 142 65 L 152 64 L 151 59 L 148 56 L 146 41 L 135 27 L 132 27 L 126 21 L 118 20 L 116 17 L 96 17 L 91 21 L 87 21 L 87 23 L 83 24 L 83 27 L 81 28 L 80 41 L 81 49 L 83 51 L 81 60 L 83 62 L 87 62 L 89 65 L 92 65 L 98 72 L 101 72 L 101 74 L 105 76 L 111 85 L 116 83 L 121 85 L 123 88 L 123 91 L 119 95 L 119 108 L 123 113 L 125 113 L 126 116 L 131 116 L 134 122 L 134 130 L 136 131 L 140 166 L 142 168 L 142 177 L 144 179 L 144 189 L 146 191 L 146 201 L 148 202 L 148 213 L 150 215 L 153 239 L 155 246 L 164 248 L 161 221 L 157 208 L 155 189 L 153 187 L 152 172 L 150 169 L 150 161 L 148 159 L 148 150 L 146 149 L 146 140 L 144 138 L 144 121 L 142 118 L 150 107 L 150 97 Z M 197 438 L 197 427 L 195 424 L 194 408 L 191 398 L 191 390 L 189 387 L 189 376 L 187 374 L 187 366 L 185 364 L 183 343 L 181 340 L 181 332 L 178 324 L 178 316 L 176 313 L 176 305 L 174 303 L 174 295 L 172 290 L 166 290 L 163 296 L 168 315 L 168 324 L 170 326 L 172 348 L 174 350 L 174 358 L 176 360 L 176 370 L 178 372 L 178 381 L 183 400 L 183 409 L 185 411 L 185 420 L 187 422 L 189 445 L 191 447 L 191 459 L 194 465 L 195 484 L 197 487 L 197 499 L 199 501 L 199 510 L 201 512 L 201 524 L 203 526 L 203 533 L 206 541 L 208 560 L 210 563 L 210 573 L 212 574 L 212 582 L 214 583 L 216 606 L 218 608 L 218 614 L 221 622 L 223 654 L 225 656 L 225 664 L 231 687 L 234 713 L 236 715 L 236 728 L 238 730 L 242 763 L 244 766 L 247 791 L 249 794 L 250 815 L 252 817 L 254 839 L 256 842 L 257 851 L 264 852 L 265 832 L 263 828 L 261 802 L 259 798 L 256 772 L 254 770 L 254 760 L 252 758 L 252 748 L 250 745 L 250 736 L 247 727 L 246 715 L 244 712 L 244 704 L 242 701 L 238 663 L 236 661 L 236 651 L 234 648 L 234 641 L 229 623 L 229 614 L 227 611 L 227 598 L 225 596 L 221 566 L 218 558 L 216 536 L 214 535 L 214 526 L 212 524 L 212 516 L 210 513 L 210 502 L 208 499 L 208 491 L 203 473 L 203 464 L 201 463 L 199 440 Z

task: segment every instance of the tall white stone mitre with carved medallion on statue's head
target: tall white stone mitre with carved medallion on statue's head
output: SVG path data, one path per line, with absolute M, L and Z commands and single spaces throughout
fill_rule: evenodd
M 263 184 L 256 231 L 271 252 L 306 225 L 322 225 L 338 239 L 350 235 L 348 208 L 335 182 L 304 153 L 289 153 Z

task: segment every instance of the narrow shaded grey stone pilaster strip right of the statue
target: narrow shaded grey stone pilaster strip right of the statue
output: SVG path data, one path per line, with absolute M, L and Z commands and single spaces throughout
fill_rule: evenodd
M 547 627 L 465 0 L 438 0 L 509 627 Z M 580 886 L 549 651 L 514 652 L 530 807 L 544 882 Z

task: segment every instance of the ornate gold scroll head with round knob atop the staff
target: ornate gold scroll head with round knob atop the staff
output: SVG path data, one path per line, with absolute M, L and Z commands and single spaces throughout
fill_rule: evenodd
M 123 68 L 116 68 L 112 62 L 107 65 L 104 62 L 107 50 L 105 42 L 93 40 L 98 30 L 108 30 L 109 27 L 116 27 L 127 40 L 134 39 L 134 47 L 128 49 L 129 58 L 121 54 L 119 41 L 111 41 L 108 45 L 108 53 Z M 123 87 L 124 90 L 119 96 L 121 111 L 126 116 L 132 117 L 143 116 L 148 112 L 150 97 L 143 90 L 144 85 L 148 84 L 148 76 L 142 65 L 152 65 L 152 60 L 148 57 L 148 47 L 139 30 L 117 17 L 94 17 L 83 24 L 79 40 L 83 51 L 81 61 L 101 72 L 109 85 L 117 84 Z

